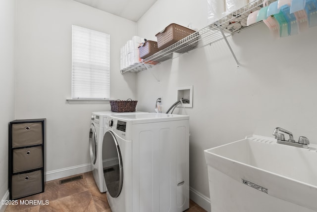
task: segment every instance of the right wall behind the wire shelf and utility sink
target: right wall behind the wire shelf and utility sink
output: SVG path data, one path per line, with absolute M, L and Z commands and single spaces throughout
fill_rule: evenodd
M 138 21 L 138 35 L 155 39 L 173 22 L 201 29 L 207 26 L 206 7 L 206 0 L 158 0 Z M 275 127 L 317 143 L 316 35 L 317 27 L 274 39 L 261 23 L 229 38 L 239 68 L 222 40 L 152 68 L 160 82 L 149 71 L 137 74 L 141 110 L 154 111 L 162 97 L 164 112 L 176 101 L 177 87 L 193 85 L 193 108 L 176 111 L 190 115 L 192 191 L 209 197 L 206 149 L 249 134 L 272 137 Z

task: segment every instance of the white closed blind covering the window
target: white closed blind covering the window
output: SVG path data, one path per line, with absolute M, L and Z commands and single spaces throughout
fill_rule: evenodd
M 72 99 L 109 99 L 109 37 L 72 25 Z

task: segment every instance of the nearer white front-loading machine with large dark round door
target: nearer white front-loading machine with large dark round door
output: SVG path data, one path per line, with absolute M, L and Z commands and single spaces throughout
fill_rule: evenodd
M 189 116 L 109 115 L 103 160 L 112 212 L 182 212 L 189 208 Z M 105 128 L 106 128 L 105 127 Z M 105 143 L 106 142 L 106 143 Z M 110 153 L 115 152 L 113 156 Z

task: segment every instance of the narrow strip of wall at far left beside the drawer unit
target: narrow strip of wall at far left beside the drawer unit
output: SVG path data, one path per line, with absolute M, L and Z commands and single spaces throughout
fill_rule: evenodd
M 0 199 L 8 190 L 8 122 L 14 119 L 14 16 L 15 0 L 0 0 Z

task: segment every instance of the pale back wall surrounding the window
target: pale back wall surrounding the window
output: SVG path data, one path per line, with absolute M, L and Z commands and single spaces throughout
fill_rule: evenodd
M 136 23 L 73 0 L 17 0 L 16 118 L 47 118 L 47 171 L 91 163 L 92 111 L 109 105 L 70 105 L 71 25 L 110 34 L 110 98 L 135 98 L 135 75 L 119 72 L 120 48 Z

